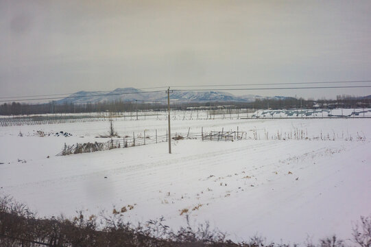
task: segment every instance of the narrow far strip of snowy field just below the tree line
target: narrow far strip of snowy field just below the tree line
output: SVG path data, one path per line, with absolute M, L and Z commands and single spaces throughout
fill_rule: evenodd
M 222 107 L 222 106 L 220 106 Z M 252 110 L 235 109 L 229 106 L 203 110 L 173 110 L 172 120 L 201 119 L 249 119 L 249 118 L 371 118 L 371 108 L 344 109 L 288 109 L 288 110 Z M 0 115 L 0 127 L 40 124 L 85 123 L 88 121 L 106 121 L 107 117 L 126 120 L 163 120 L 167 119 L 165 110 L 139 110 L 136 112 L 100 112 L 100 113 L 58 113 L 44 115 Z

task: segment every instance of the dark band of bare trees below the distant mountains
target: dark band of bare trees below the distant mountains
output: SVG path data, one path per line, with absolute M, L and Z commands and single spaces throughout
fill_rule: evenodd
M 223 108 L 249 108 L 249 109 L 289 109 L 289 108 L 370 108 L 371 97 L 352 97 L 337 95 L 336 99 L 303 99 L 284 97 L 282 99 L 255 99 L 254 102 L 187 102 L 171 103 L 176 110 L 190 110 L 195 108 L 214 109 Z M 60 114 L 60 113 L 104 113 L 104 112 L 130 112 L 135 110 L 167 110 L 167 104 L 143 102 L 97 102 L 86 104 L 73 104 L 51 101 L 45 104 L 26 104 L 19 102 L 4 103 L 0 105 L 0 115 L 33 115 L 33 114 Z

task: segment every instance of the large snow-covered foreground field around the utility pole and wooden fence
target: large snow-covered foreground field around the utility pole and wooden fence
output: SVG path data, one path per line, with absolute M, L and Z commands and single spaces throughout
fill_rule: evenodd
M 114 121 L 121 137 L 166 133 L 165 118 L 132 119 Z M 126 220 L 164 216 L 176 229 L 188 214 L 191 224 L 208 221 L 237 241 L 256 234 L 298 243 L 333 233 L 350 238 L 359 216 L 371 215 L 370 122 L 176 117 L 173 134 L 238 127 L 246 138 L 172 141 L 172 154 L 157 143 L 69 156 L 55 155 L 64 143 L 107 141 L 96 137 L 107 134 L 109 122 L 3 126 L 0 195 L 41 216 L 73 217 L 80 209 L 111 215 L 125 207 Z

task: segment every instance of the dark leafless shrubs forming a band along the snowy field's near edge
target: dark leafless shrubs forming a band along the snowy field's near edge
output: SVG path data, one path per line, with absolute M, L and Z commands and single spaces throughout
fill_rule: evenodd
M 198 205 L 200 207 L 200 205 Z M 183 209 L 184 213 L 188 209 Z M 163 217 L 134 226 L 123 221 L 115 209 L 109 217 L 91 215 L 84 217 L 78 212 L 73 220 L 62 216 L 40 219 L 25 204 L 14 202 L 10 197 L 0 198 L 0 247 L 5 246 L 246 246 L 246 247 L 296 247 L 297 244 L 274 244 L 262 237 L 252 237 L 248 242 L 235 243 L 226 234 L 211 229 L 208 222 L 196 228 L 187 226 L 172 231 Z M 99 223 L 98 223 L 99 222 Z M 98 227 L 99 225 L 99 227 Z M 357 247 L 371 246 L 371 217 L 361 217 L 353 229 L 353 242 Z M 335 235 L 307 247 L 346 247 Z

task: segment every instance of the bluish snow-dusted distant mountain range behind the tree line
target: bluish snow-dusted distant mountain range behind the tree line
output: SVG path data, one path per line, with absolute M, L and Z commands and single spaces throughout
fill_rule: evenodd
M 176 91 L 170 94 L 171 102 L 254 102 L 255 99 L 285 99 L 284 96 L 263 97 L 259 95 L 242 95 L 236 96 L 231 93 L 221 91 Z M 138 100 L 141 103 L 165 103 L 167 102 L 167 94 L 164 91 L 145 92 L 140 89 L 124 88 L 115 89 L 110 92 L 102 91 L 79 91 L 73 93 L 64 99 L 57 101 L 57 104 L 73 103 L 103 103 L 103 102 L 132 102 Z

